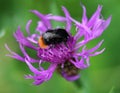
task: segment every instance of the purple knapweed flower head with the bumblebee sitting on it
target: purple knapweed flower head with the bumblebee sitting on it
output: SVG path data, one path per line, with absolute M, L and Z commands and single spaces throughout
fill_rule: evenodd
M 79 70 L 90 66 L 90 57 L 99 55 L 105 50 L 103 48 L 101 51 L 97 51 L 103 40 L 91 49 L 87 49 L 86 44 L 101 36 L 110 24 L 111 16 L 106 20 L 101 17 L 102 6 L 99 5 L 92 17 L 88 19 L 85 6 L 82 5 L 82 8 L 81 22 L 73 19 L 68 10 L 62 7 L 65 16 L 45 15 L 37 10 L 31 11 L 40 18 L 36 27 L 37 33 L 30 33 L 29 27 L 32 20 L 29 20 L 26 25 L 28 36 L 24 36 L 20 27 L 18 27 L 14 37 L 19 43 L 23 56 L 11 51 L 7 45 L 6 48 L 11 53 L 8 56 L 25 62 L 33 73 L 32 75 L 26 75 L 26 79 L 33 79 L 33 84 L 39 85 L 49 80 L 53 72 L 57 70 L 66 80 L 77 80 L 80 77 Z M 65 23 L 65 26 L 60 27 L 58 25 L 55 28 L 52 26 L 51 21 Z M 72 24 L 76 26 L 74 36 L 71 34 Z M 37 59 L 30 57 L 25 47 L 36 51 Z M 44 62 L 50 63 L 47 69 L 44 69 L 41 65 Z M 38 63 L 38 68 L 33 66 L 34 63 Z

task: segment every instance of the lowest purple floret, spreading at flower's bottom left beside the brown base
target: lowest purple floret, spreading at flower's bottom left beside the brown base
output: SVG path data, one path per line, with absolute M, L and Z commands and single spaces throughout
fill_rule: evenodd
M 43 82 L 49 80 L 52 77 L 53 72 L 56 69 L 57 64 L 51 64 L 48 70 L 39 71 L 32 64 L 26 59 L 26 64 L 28 65 L 29 69 L 34 73 L 34 76 L 26 75 L 25 78 L 27 79 L 34 79 L 34 85 L 40 85 Z

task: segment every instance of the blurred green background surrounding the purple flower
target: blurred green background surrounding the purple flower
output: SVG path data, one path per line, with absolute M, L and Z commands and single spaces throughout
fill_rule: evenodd
M 38 18 L 30 13 L 37 9 L 41 13 L 64 15 L 61 6 L 65 6 L 71 16 L 81 21 L 82 2 L 90 17 L 98 4 L 103 5 L 102 15 L 112 15 L 112 21 L 102 36 L 89 44 L 94 46 L 101 39 L 106 47 L 103 54 L 91 58 L 91 66 L 81 71 L 82 87 L 64 80 L 54 73 L 51 80 L 40 86 L 31 85 L 32 80 L 24 79 L 29 69 L 25 63 L 6 57 L 4 44 L 21 54 L 13 33 L 18 26 L 25 32 L 29 19 L 33 20 L 31 31 L 37 25 Z M 0 93 L 120 93 L 120 0 L 0 0 Z

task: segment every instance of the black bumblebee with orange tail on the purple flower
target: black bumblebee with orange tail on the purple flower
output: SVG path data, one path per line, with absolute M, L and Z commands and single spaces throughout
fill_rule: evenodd
M 41 48 L 47 48 L 49 45 L 56 45 L 60 43 L 66 43 L 69 38 L 69 34 L 65 29 L 52 29 L 47 30 L 45 33 L 43 33 L 39 40 L 39 46 Z

